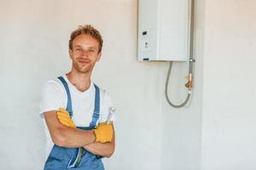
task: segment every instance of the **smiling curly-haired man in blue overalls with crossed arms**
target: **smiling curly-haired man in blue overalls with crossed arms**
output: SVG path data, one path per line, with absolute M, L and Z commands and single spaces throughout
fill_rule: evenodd
M 90 80 L 102 55 L 102 42 L 92 26 L 73 31 L 69 40 L 72 70 L 44 85 L 40 109 L 48 127 L 45 170 L 102 170 L 102 157 L 113 154 L 114 116 L 106 122 L 113 105 L 106 91 Z

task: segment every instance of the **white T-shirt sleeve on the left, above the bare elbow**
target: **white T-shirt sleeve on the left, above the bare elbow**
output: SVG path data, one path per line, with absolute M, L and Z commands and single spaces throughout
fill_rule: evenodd
M 40 103 L 40 116 L 44 117 L 44 112 L 46 111 L 65 109 L 65 99 L 67 98 L 65 95 L 65 91 L 63 91 L 59 82 L 54 80 L 46 82 Z

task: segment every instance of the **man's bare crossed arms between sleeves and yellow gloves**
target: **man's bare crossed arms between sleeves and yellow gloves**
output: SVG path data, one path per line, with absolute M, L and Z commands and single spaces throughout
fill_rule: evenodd
M 115 145 L 114 130 L 112 141 L 101 143 L 95 142 L 96 136 L 93 130 L 81 130 L 61 124 L 57 118 L 56 111 L 45 112 L 44 119 L 54 144 L 67 148 L 84 147 L 85 150 L 89 150 L 97 156 L 110 157 L 113 155 Z

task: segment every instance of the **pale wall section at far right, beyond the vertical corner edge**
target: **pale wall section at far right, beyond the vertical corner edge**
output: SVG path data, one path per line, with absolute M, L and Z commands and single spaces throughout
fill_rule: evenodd
M 256 169 L 256 1 L 206 0 L 202 169 Z

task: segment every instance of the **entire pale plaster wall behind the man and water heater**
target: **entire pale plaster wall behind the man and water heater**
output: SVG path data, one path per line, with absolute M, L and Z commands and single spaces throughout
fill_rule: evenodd
M 196 0 L 196 7 L 195 88 L 177 110 L 164 98 L 168 65 L 137 62 L 137 0 L 0 1 L 0 169 L 42 169 L 41 88 L 69 70 L 68 37 L 83 24 L 102 31 L 93 79 L 117 108 L 107 169 L 256 169 L 255 1 Z M 187 67 L 173 65 L 174 103 L 186 96 Z

